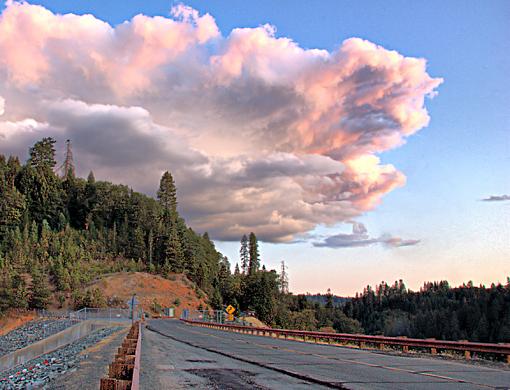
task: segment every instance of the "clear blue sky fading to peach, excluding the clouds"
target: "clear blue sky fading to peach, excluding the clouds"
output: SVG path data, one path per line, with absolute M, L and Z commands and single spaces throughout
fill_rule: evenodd
M 116 25 L 136 14 L 169 16 L 167 1 L 31 1 L 55 13 L 91 13 Z M 510 275 L 510 4 L 507 1 L 187 1 L 210 13 L 224 36 L 269 23 L 277 37 L 333 51 L 361 37 L 427 60 L 444 82 L 426 101 L 431 121 L 402 147 L 379 155 L 407 177 L 357 221 L 370 235 L 421 240 L 410 247 L 318 248 L 310 242 L 263 243 L 263 261 L 285 260 L 295 292 L 353 294 L 366 284 L 404 279 L 453 284 L 504 281 Z M 313 234 L 349 233 L 350 225 Z M 217 242 L 232 262 L 238 244 Z M 313 269 L 312 272 L 309 270 Z M 334 270 L 329 272 L 328 270 Z

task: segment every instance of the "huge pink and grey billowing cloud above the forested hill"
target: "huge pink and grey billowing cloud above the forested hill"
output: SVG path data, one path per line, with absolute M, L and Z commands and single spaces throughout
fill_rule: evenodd
M 172 13 L 112 27 L 10 3 L 0 151 L 70 138 L 80 173 L 148 193 L 169 169 L 181 211 L 217 239 L 292 240 L 403 185 L 377 154 L 428 124 L 441 80 L 425 60 L 357 38 L 307 50 L 269 25 L 223 36 L 211 15 Z

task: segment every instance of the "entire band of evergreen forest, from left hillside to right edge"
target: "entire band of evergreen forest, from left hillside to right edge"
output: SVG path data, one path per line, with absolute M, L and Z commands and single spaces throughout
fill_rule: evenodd
M 110 272 L 184 273 L 209 306 L 255 311 L 271 326 L 388 336 L 510 341 L 510 280 L 506 285 L 452 288 L 402 281 L 365 288 L 352 299 L 288 292 L 285 267 L 262 265 L 255 233 L 240 240 L 239 263 L 218 252 L 179 215 L 177 189 L 165 172 L 157 199 L 125 185 L 76 177 L 69 158 L 57 175 L 55 140 L 44 138 L 18 157 L 0 155 L 0 313 L 46 308 L 52 298 L 74 308 L 108 304 L 83 293 Z M 197 309 L 197 308 L 195 308 Z

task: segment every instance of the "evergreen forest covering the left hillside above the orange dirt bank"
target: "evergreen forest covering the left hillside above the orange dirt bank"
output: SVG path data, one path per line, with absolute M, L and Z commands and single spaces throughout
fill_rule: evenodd
M 276 273 L 260 270 L 254 233 L 249 269 L 233 277 L 208 234 L 196 233 L 179 215 L 170 172 L 161 177 L 154 199 L 96 181 L 93 172 L 76 177 L 69 156 L 59 176 L 54 139 L 31 147 L 25 164 L 0 155 L 0 311 L 45 308 L 50 294 L 62 303 L 71 295 L 74 308 L 104 305 L 99 291 L 83 295 L 80 288 L 117 271 L 184 273 L 214 308 L 228 299 L 260 310 L 257 299 L 277 290 Z

